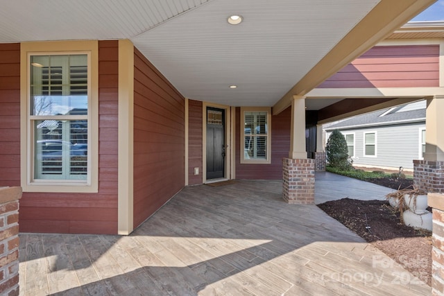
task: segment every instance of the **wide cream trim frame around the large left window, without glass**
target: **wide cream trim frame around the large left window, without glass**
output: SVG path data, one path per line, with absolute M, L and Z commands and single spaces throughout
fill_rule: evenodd
M 99 189 L 99 43 L 97 41 L 23 42 L 20 46 L 20 159 L 24 192 L 96 193 Z M 71 180 L 33 180 L 33 147 L 30 114 L 31 55 L 88 55 L 88 175 L 85 182 Z

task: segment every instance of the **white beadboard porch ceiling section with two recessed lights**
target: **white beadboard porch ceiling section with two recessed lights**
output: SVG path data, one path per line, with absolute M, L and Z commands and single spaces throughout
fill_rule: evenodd
M 132 40 L 188 98 L 271 106 L 378 2 L 214 0 Z

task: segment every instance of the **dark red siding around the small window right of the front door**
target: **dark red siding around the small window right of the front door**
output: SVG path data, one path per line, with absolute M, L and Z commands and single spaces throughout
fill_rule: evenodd
M 236 179 L 281 180 L 282 158 L 289 156 L 291 107 L 271 116 L 271 164 L 241 164 L 241 109 L 236 108 Z

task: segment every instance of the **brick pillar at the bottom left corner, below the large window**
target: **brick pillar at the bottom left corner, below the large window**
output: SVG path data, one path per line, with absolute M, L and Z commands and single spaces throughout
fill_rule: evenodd
M 0 187 L 0 295 L 19 295 L 20 187 Z

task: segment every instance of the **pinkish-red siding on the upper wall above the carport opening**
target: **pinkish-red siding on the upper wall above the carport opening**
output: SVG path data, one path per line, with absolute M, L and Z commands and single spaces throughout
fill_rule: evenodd
M 438 87 L 439 46 L 375 46 L 319 88 Z

